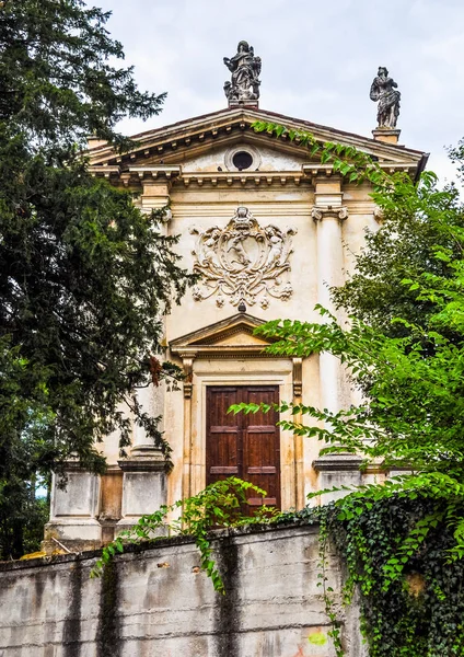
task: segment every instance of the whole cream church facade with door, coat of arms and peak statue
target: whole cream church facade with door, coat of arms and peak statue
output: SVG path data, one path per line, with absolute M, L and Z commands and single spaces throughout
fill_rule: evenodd
M 374 130 L 372 139 L 260 110 L 253 97 L 260 62 L 252 51 L 252 70 L 250 48 L 239 47 L 239 55 L 228 60 L 227 108 L 137 135 L 137 148 L 124 155 L 90 143 L 95 176 L 134 192 L 144 212 L 169 206 L 163 230 L 181 235 L 183 266 L 199 280 L 164 318 L 165 358 L 185 380 L 179 390 L 160 385 L 138 393 L 143 408 L 163 418 L 172 471 L 166 474 L 161 452 L 136 425 L 126 458 L 118 436 L 108 436 L 102 446 L 106 474 L 70 464 L 67 488 L 54 486 L 46 539 L 100 546 L 160 504 L 231 475 L 263 487 L 266 504 L 281 509 L 301 508 L 309 493 L 330 485 L 384 476 L 380 469 L 361 474 L 357 457 L 320 458 L 317 441 L 279 429 L 275 414 L 228 414 L 240 402 L 333 410 L 357 402 L 335 358 L 272 357 L 253 331 L 278 318 L 317 321 L 316 303 L 332 309 L 328 288 L 344 283 L 366 230 L 380 221 L 369 183 L 350 183 L 298 140 L 252 126 L 264 120 L 310 131 L 413 177 L 427 157 L 398 146 L 395 126 Z

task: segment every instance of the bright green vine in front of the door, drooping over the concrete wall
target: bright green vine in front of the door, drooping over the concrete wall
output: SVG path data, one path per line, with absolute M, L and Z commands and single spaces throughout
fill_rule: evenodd
M 124 552 L 127 543 L 153 542 L 166 535 L 192 535 L 200 553 L 201 568 L 211 578 L 214 590 L 225 593 L 213 558 L 211 529 L 269 522 L 278 515 L 278 511 L 265 505 L 253 516 L 245 515 L 246 497 L 250 492 L 266 497 L 266 492 L 262 488 L 232 476 L 210 484 L 188 499 L 176 502 L 172 506 L 163 505 L 154 514 L 142 516 L 132 529 L 121 532 L 103 549 L 102 557 L 92 569 L 91 577 L 98 577 L 114 556 L 118 552 Z M 176 514 L 178 509 L 182 509 L 179 516 Z M 174 519 L 169 520 L 170 516 Z

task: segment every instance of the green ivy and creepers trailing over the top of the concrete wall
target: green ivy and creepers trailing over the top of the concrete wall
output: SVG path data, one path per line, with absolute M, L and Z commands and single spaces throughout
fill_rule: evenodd
M 250 482 L 230 477 L 184 503 L 143 516 L 104 548 L 91 576 L 113 567 L 114 556 L 127 544 L 192 535 L 201 568 L 214 589 L 225 593 L 213 558 L 211 529 L 298 519 L 320 527 L 317 578 L 336 657 L 346 653 L 340 596 L 328 585 L 332 545 L 347 566 L 344 604 L 351 603 L 356 590 L 360 592 L 361 632 L 370 657 L 464 657 L 464 562 L 451 528 L 453 518 L 464 516 L 464 486 L 456 489 L 432 476 L 422 477 L 420 485 L 390 480 L 382 486 L 350 491 L 322 507 L 278 512 L 264 506 L 254 517 L 244 512 L 250 491 L 266 495 Z M 181 508 L 182 515 L 169 521 Z

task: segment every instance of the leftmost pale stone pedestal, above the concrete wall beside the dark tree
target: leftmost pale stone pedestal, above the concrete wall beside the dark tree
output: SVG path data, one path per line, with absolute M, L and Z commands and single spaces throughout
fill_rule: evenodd
M 96 550 L 102 545 L 97 520 L 100 476 L 71 465 L 66 479 L 62 487 L 59 479 L 53 477 L 50 520 L 45 526 L 43 549 L 50 554 L 62 550 L 61 543 L 71 552 Z

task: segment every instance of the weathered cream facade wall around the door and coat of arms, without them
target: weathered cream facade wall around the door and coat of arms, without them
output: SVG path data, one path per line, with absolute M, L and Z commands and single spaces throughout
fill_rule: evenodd
M 182 266 L 188 270 L 199 264 L 198 254 L 202 254 L 204 265 L 208 262 L 200 235 L 217 227 L 224 238 L 223 231 L 237 207 L 248 208 L 262 231 L 259 240 L 250 235 L 244 239 L 244 251 L 252 261 L 263 241 L 266 249 L 270 249 L 271 243 L 279 244 L 279 240 L 270 241 L 272 233 L 263 232 L 269 227 L 277 227 L 289 241 L 291 238 L 292 252 L 289 254 L 287 246 L 280 252 L 281 256 L 286 254 L 285 260 L 289 254 L 286 264 L 290 269 L 277 276 L 276 267 L 267 268 L 266 280 L 274 283 L 267 291 L 262 288 L 256 296 L 247 296 L 246 313 L 260 321 L 288 318 L 312 322 L 320 321 L 314 307 L 321 303 L 344 321 L 344 313 L 330 301 L 329 287 L 343 285 L 352 269 L 355 254 L 364 244 L 366 230 L 379 228 L 371 187 L 368 183 L 349 183 L 333 172 L 330 164 L 321 164 L 318 157 L 312 158 L 306 149 L 295 143 L 255 134 L 248 129 L 250 108 L 243 112 L 229 110 L 209 118 L 198 117 L 161 131 L 147 132 L 139 136 L 143 148 L 121 158 L 96 149 L 92 152 L 92 161 L 102 166 L 95 166 L 93 172 L 136 193 L 135 203 L 142 211 L 150 212 L 170 204 L 169 220 L 161 230 L 171 237 L 179 235 L 175 249 Z M 263 119 L 265 115 L 256 113 L 254 119 Z M 275 119 L 283 120 L 283 117 L 269 115 L 269 120 Z M 293 119 L 288 120 L 292 123 Z M 308 125 L 300 127 L 306 129 Z M 316 132 L 321 129 L 312 128 Z M 372 152 L 381 162 L 391 161 L 394 166 L 410 158 L 415 162 L 419 157 L 417 152 L 414 154 L 332 129 L 324 128 L 318 138 L 351 143 Z M 253 155 L 253 164 L 244 171 L 233 164 L 233 154 L 241 150 Z M 244 267 L 241 269 L 242 281 L 252 286 L 254 274 L 251 272 L 259 267 L 245 268 L 244 263 L 236 260 L 229 261 L 228 267 L 233 249 L 229 238 L 227 240 L 227 244 L 216 242 L 213 250 L 222 244 L 220 253 L 208 255 L 219 267 L 219 279 L 234 262 Z M 287 245 L 290 249 L 289 242 Z M 225 256 L 231 249 L 232 255 Z M 256 261 L 253 262 L 256 265 Z M 265 262 L 269 265 L 274 261 L 259 262 L 263 269 Z M 51 539 L 66 545 L 97 548 L 115 532 L 136 522 L 143 512 L 195 495 L 206 486 L 208 385 L 278 385 L 281 401 L 332 411 L 360 402 L 360 393 L 352 390 L 347 371 L 328 354 L 312 355 L 301 364 L 264 357 L 262 353 L 248 350 L 257 339 L 250 331 L 244 331 L 240 338 L 237 334 L 229 335 L 225 342 L 219 338 L 214 342 L 209 335 L 208 341 L 212 341 L 209 344 L 214 345 L 214 350 L 209 354 L 175 345 L 192 332 L 210 330 L 239 313 L 239 298 L 232 293 L 239 291 L 236 280 L 222 286 L 221 293 L 213 291 L 212 286 L 210 297 L 199 283 L 200 290 L 187 289 L 182 304 L 173 304 L 163 318 L 162 344 L 167 347 L 165 357 L 183 368 L 185 382 L 178 391 L 167 392 L 167 387 L 162 383 L 137 392 L 141 407 L 151 417 L 162 417 L 159 428 L 172 448 L 170 474 L 162 471 L 163 457 L 138 423 L 132 423 L 131 446 L 125 459 L 120 459 L 118 435 L 107 436 L 100 446 L 109 466 L 105 475 L 98 480 L 78 472 L 76 464 L 70 463 L 67 492 L 54 486 L 50 522 L 44 543 L 47 550 L 56 545 Z M 279 296 L 278 290 L 289 291 L 288 285 L 292 295 Z M 294 419 L 302 420 L 300 417 Z M 332 485 L 369 483 L 374 477 L 380 481 L 383 476 L 376 471 L 361 474 L 360 458 L 320 459 L 320 448 L 316 440 L 280 429 L 283 510 L 302 508 L 309 493 Z M 318 499 L 313 498 L 313 504 L 317 503 Z

